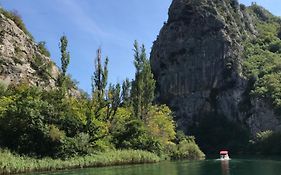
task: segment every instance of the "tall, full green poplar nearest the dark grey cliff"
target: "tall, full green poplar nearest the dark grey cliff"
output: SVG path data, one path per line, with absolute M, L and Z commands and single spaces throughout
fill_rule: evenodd
M 132 105 L 134 115 L 143 119 L 154 99 L 155 80 L 149 60 L 146 57 L 144 45 L 139 48 L 137 41 L 135 41 L 134 52 L 136 74 L 135 80 L 132 82 Z

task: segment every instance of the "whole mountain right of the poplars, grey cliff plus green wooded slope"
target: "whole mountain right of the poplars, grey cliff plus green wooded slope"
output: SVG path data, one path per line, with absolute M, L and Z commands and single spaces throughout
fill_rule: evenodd
M 280 18 L 255 3 L 174 0 L 151 52 L 157 101 L 204 150 L 241 150 L 280 131 L 280 46 Z

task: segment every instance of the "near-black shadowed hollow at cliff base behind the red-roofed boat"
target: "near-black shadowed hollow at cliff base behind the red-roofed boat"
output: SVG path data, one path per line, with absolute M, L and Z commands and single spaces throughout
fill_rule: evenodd
M 191 134 L 204 153 L 218 154 L 219 150 L 227 149 L 232 154 L 241 154 L 247 150 L 250 133 L 242 124 L 215 113 L 204 115 L 197 123 L 191 128 Z

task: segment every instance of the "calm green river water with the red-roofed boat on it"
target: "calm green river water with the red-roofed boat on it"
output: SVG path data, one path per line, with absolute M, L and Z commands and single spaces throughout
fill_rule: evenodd
M 37 173 L 42 174 L 42 173 Z M 167 161 L 157 164 L 88 168 L 53 175 L 279 175 L 281 161 L 233 159 L 230 161 Z

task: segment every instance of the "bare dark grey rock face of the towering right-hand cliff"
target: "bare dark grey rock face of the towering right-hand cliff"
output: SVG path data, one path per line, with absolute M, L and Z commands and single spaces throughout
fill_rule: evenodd
M 252 134 L 277 129 L 274 112 L 259 100 L 245 110 L 242 41 L 256 34 L 236 0 L 174 0 L 151 51 L 158 101 L 168 104 L 185 131 L 200 118 L 227 117 Z

